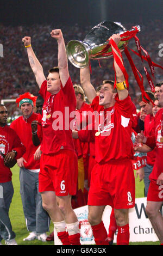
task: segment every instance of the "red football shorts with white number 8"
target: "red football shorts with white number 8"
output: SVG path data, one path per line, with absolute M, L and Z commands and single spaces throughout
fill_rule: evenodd
M 96 163 L 91 174 L 88 205 L 110 205 L 115 209 L 135 205 L 135 177 L 130 160 Z

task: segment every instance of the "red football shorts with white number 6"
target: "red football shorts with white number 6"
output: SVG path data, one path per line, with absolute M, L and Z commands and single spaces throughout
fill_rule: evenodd
M 55 191 L 56 196 L 75 195 L 78 182 L 77 155 L 66 149 L 43 154 L 40 159 L 39 192 Z

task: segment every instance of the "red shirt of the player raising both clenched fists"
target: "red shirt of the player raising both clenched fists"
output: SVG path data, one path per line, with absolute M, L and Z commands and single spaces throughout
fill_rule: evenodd
M 68 78 L 65 87 L 61 84 L 59 93 L 55 95 L 47 92 L 45 80 L 39 94 L 45 100 L 42 107 L 41 151 L 44 154 L 56 153 L 61 148 L 74 151 L 71 122 L 74 118 L 73 111 L 76 110 L 76 95 L 71 78 Z M 73 117 L 70 117 L 71 113 Z

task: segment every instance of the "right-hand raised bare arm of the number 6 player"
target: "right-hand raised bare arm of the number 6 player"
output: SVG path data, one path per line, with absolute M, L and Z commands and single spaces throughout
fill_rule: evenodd
M 58 42 L 59 76 L 62 86 L 64 87 L 69 77 L 65 40 L 60 29 L 54 29 L 51 32 L 51 36 L 52 38 L 55 38 Z

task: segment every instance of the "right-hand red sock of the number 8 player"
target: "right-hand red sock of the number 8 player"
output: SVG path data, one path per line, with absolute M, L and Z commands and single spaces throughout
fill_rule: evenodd
M 123 227 L 118 226 L 117 245 L 129 245 L 129 224 Z

